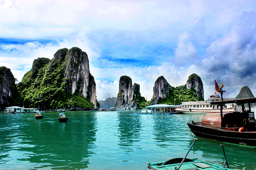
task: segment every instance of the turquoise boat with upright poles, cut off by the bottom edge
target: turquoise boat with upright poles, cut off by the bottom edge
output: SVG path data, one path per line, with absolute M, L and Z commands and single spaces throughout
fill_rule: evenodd
M 194 142 L 198 139 L 194 139 L 191 144 L 189 151 L 191 150 Z M 197 158 L 187 159 L 187 155 L 189 151 L 185 155 L 184 158 L 178 157 L 174 159 L 169 159 L 167 161 L 162 162 L 152 162 L 148 163 L 148 168 L 153 170 L 231 170 L 229 169 L 228 159 L 226 158 L 226 154 L 224 151 L 224 145 L 220 144 L 223 149 L 223 154 L 225 157 L 225 161 L 223 166 L 215 165 L 206 161 L 201 161 Z M 227 165 L 228 168 L 225 168 Z

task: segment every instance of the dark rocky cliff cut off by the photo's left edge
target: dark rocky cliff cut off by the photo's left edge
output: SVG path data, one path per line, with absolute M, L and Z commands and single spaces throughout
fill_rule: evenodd
M 9 68 L 0 67 L 0 108 L 12 106 L 17 96 L 15 79 Z

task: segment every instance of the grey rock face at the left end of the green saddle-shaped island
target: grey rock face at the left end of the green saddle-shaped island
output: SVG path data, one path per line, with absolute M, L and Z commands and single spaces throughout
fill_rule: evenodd
M 161 76 L 158 77 L 155 81 L 155 85 L 153 88 L 153 103 L 152 104 L 157 104 L 158 99 L 161 98 L 166 98 L 169 93 L 169 83 L 166 81 L 166 79 Z

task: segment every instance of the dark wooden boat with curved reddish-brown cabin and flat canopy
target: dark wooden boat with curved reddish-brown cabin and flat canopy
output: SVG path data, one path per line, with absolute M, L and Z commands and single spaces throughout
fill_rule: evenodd
M 242 112 L 223 113 L 222 106 L 233 102 L 242 106 Z M 195 136 L 256 146 L 256 124 L 254 112 L 250 107 L 250 103 L 254 102 L 256 102 L 256 98 L 210 102 L 210 104 L 220 106 L 220 113 L 207 114 L 204 115 L 202 122 L 192 121 L 187 124 Z M 245 104 L 248 104 L 248 110 L 245 110 Z

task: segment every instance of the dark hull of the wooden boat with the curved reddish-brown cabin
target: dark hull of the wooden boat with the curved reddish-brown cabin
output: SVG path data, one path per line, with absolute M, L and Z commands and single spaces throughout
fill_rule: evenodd
M 220 127 L 209 127 L 201 124 L 187 123 L 191 132 L 195 136 L 202 138 L 209 138 L 220 140 L 223 142 L 230 142 L 236 144 L 244 144 L 256 146 L 256 131 L 251 132 L 237 132 L 233 130 L 225 130 Z

